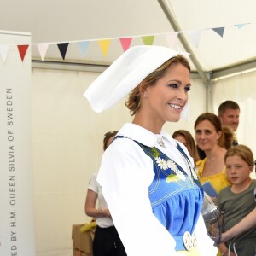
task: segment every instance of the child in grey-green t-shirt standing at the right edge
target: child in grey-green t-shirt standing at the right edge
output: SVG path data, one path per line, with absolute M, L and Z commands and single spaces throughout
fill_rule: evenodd
M 256 180 L 252 180 L 253 153 L 245 145 L 230 148 L 225 156 L 226 175 L 231 186 L 222 189 L 217 197 L 217 205 L 224 212 L 224 232 L 245 218 L 256 206 L 254 189 Z M 254 256 L 256 252 L 256 226 L 235 236 L 219 248 L 222 255 Z

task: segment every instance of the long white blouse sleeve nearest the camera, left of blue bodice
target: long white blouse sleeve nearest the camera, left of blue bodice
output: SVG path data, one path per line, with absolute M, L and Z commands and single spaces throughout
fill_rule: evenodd
M 128 255 L 177 255 L 175 241 L 152 212 L 153 177 L 152 160 L 130 139 L 116 139 L 102 156 L 97 180 Z

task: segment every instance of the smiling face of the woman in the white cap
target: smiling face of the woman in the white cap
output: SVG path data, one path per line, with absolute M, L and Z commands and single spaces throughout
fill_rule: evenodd
M 187 67 L 180 63 L 168 67 L 165 75 L 156 84 L 143 91 L 143 114 L 161 126 L 166 121 L 177 122 L 188 101 L 190 86 Z

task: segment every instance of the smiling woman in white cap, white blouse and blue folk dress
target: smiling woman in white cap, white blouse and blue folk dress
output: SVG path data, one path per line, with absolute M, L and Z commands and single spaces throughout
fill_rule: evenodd
M 129 256 L 217 252 L 201 215 L 194 161 L 162 130 L 188 119 L 189 72 L 187 59 L 172 49 L 135 46 L 84 93 L 97 113 L 130 94 L 126 106 L 134 119 L 102 155 L 97 177 Z

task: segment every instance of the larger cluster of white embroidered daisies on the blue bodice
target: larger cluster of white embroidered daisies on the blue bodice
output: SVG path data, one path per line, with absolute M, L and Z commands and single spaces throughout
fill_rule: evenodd
M 180 179 L 183 181 L 186 180 L 185 175 L 183 174 L 183 172 L 181 172 L 177 168 L 177 165 L 173 160 L 168 159 L 166 161 L 164 159 L 161 159 L 160 157 L 156 157 L 155 160 L 161 169 L 163 169 L 163 170 L 171 169 L 171 171 L 172 171 L 171 174 L 169 174 L 166 177 L 166 183 L 176 182 Z

